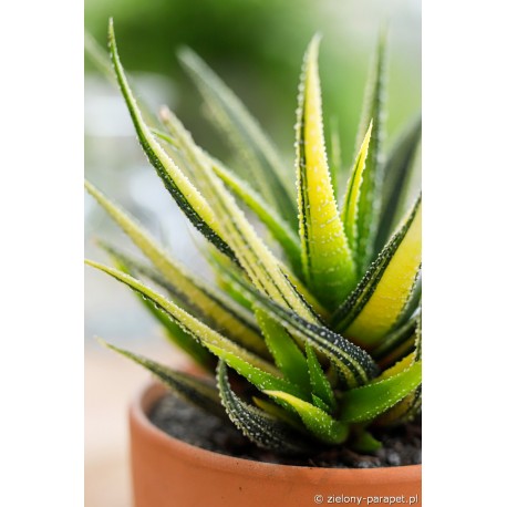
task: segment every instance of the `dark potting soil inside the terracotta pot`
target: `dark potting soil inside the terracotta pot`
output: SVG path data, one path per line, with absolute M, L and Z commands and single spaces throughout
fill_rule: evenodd
M 172 393 L 152 410 L 149 418 L 165 433 L 197 447 L 245 459 L 293 466 L 327 468 L 375 468 L 421 463 L 421 420 L 411 424 L 372 433 L 383 447 L 372 454 L 334 447 L 311 457 L 282 457 L 260 449 L 249 442 L 232 423 L 205 413 Z

